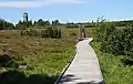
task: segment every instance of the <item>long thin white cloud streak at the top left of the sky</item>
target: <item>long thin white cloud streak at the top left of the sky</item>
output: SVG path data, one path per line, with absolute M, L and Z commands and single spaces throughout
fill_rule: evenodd
M 40 8 L 47 4 L 82 3 L 83 0 L 0 1 L 0 8 Z

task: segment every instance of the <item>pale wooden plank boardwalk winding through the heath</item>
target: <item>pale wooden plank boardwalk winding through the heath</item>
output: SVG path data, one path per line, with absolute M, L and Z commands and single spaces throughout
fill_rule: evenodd
M 89 42 L 91 38 L 76 44 L 76 54 L 58 84 L 103 84 L 99 61 Z

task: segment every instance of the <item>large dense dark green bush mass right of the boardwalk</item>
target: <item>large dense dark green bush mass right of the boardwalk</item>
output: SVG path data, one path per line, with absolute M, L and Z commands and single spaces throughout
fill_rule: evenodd
M 94 29 L 101 51 L 116 55 L 133 55 L 133 27 L 116 29 L 109 22 L 100 22 Z

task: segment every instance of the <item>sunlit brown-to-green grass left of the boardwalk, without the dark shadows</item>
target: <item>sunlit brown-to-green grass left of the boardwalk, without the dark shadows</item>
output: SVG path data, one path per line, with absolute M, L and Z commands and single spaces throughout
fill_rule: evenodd
M 0 31 L 0 56 L 4 56 L 3 54 L 7 54 L 9 57 L 14 57 L 17 63 L 24 63 L 25 66 L 21 70 L 18 67 L 8 67 L 6 69 L 8 72 L 6 75 L 7 77 L 10 77 L 10 74 L 13 75 L 18 73 L 18 77 L 21 80 L 20 72 L 23 72 L 27 76 L 32 74 L 47 74 L 48 76 L 51 75 L 51 77 L 43 78 L 43 81 L 40 81 L 39 83 L 53 84 L 59 73 L 74 55 L 75 43 L 75 36 L 63 36 L 62 39 L 42 39 L 35 36 L 21 36 L 19 31 L 14 30 Z M 21 64 L 19 64 L 19 66 L 21 66 Z M 3 67 L 0 69 L 2 70 Z M 8 71 L 12 69 L 13 71 L 16 70 L 18 72 L 12 73 Z M 12 78 L 13 84 L 18 83 L 16 76 Z M 1 84 L 12 83 L 10 80 L 3 80 L 4 82 L 1 82 Z M 31 83 L 35 84 L 37 82 L 31 81 Z M 25 81 L 24 84 L 29 83 Z

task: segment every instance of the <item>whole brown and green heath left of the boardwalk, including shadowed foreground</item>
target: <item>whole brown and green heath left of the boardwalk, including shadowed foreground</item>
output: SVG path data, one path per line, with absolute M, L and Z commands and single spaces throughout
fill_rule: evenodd
M 53 84 L 75 53 L 76 38 L 68 35 L 47 39 L 0 31 L 0 84 Z

